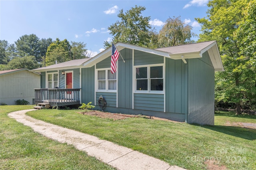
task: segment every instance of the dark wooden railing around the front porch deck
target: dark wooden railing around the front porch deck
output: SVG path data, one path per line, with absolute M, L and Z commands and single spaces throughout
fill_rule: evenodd
M 57 107 L 80 104 L 80 89 L 35 89 L 35 101 Z

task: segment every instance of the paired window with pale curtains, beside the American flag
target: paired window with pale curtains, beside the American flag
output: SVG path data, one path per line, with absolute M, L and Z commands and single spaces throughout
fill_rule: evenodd
M 98 70 L 98 90 L 115 91 L 116 73 L 112 74 L 109 69 Z

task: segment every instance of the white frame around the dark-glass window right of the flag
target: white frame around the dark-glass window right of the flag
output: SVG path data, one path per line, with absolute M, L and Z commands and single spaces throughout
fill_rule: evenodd
M 163 67 L 163 77 L 162 78 L 150 78 L 150 67 Z M 136 69 L 140 67 L 147 67 L 147 79 L 148 80 L 148 89 L 147 90 L 137 90 L 137 79 L 136 79 Z M 151 87 L 151 79 L 163 79 L 163 90 L 150 90 Z M 164 83 L 165 82 L 165 74 L 164 74 L 164 64 L 152 64 L 152 65 L 136 65 L 134 66 L 134 93 L 164 93 Z

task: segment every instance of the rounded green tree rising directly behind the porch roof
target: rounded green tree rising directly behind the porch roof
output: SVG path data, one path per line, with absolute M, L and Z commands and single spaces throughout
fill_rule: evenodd
M 56 41 L 51 43 L 46 52 L 46 65 L 53 65 L 55 61 L 62 63 L 72 60 L 71 57 L 71 45 L 68 40 L 60 41 L 56 38 Z

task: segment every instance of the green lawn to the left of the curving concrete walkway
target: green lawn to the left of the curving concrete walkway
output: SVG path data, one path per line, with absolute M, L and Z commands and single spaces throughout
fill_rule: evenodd
M 71 145 L 50 140 L 7 116 L 32 106 L 0 106 L 1 170 L 99 170 L 110 166 L 76 150 Z

